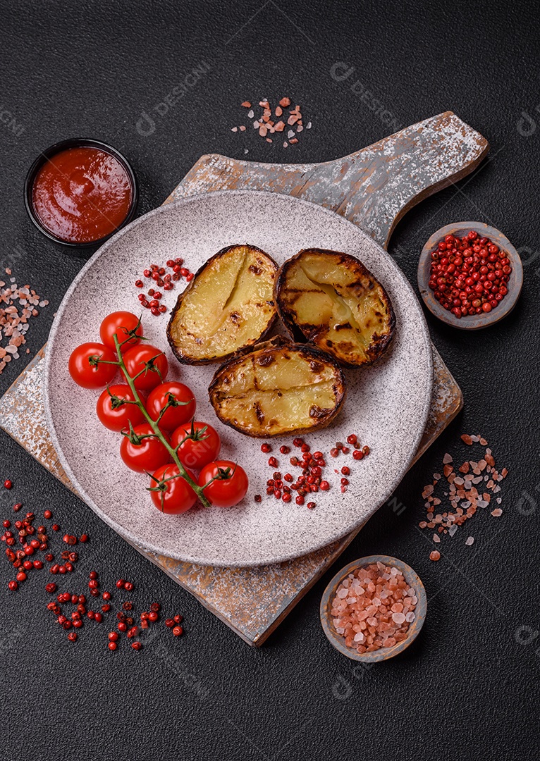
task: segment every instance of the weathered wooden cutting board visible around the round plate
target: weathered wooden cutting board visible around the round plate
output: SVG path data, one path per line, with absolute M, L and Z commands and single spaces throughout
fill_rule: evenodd
M 439 114 L 369 148 L 324 164 L 259 164 L 203 156 L 165 203 L 223 189 L 273 190 L 318 203 L 358 224 L 382 246 L 408 209 L 465 177 L 489 150 L 487 141 L 452 112 Z M 46 346 L 0 400 L 0 427 L 75 492 L 45 424 Z M 462 408 L 462 393 L 433 347 L 434 385 L 427 428 L 415 457 L 427 450 Z M 76 493 L 76 492 L 75 492 Z M 261 645 L 289 610 L 356 537 L 308 556 L 257 568 L 212 568 L 180 562 L 133 545 L 230 626 Z

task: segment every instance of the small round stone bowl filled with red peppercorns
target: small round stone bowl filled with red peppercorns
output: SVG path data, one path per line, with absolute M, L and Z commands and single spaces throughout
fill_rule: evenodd
M 510 240 L 483 222 L 446 224 L 427 240 L 418 288 L 435 317 L 462 330 L 493 325 L 513 310 L 523 266 Z

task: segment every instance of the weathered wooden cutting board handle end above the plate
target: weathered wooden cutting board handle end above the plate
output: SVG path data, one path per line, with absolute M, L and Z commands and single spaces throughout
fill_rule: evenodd
M 323 164 L 260 164 L 201 156 L 167 202 L 195 193 L 272 190 L 326 206 L 387 247 L 409 209 L 461 180 L 489 151 L 487 140 L 452 111 L 401 129 Z

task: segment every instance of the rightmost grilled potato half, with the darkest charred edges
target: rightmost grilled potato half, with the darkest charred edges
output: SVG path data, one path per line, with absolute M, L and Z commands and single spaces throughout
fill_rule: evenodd
M 371 364 L 394 333 L 388 294 L 347 253 L 300 251 L 280 269 L 274 298 L 294 339 L 312 341 L 346 367 Z

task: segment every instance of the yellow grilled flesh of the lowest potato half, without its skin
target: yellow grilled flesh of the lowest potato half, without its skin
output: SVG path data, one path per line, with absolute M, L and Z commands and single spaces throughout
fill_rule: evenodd
M 272 359 L 264 366 L 250 355 L 227 374 L 215 395 L 220 416 L 248 434 L 314 427 L 313 410 L 330 412 L 337 404 L 335 368 L 295 352 L 275 352 Z

